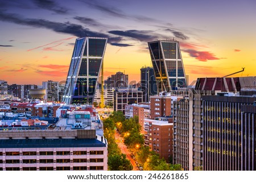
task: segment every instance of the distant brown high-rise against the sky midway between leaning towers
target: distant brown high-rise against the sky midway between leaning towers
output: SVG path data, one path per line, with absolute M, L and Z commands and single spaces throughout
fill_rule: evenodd
M 127 88 L 129 85 L 128 75 L 125 75 L 122 72 L 117 72 L 115 75 L 111 75 L 111 80 L 113 81 L 113 84 L 111 85 L 112 88 Z

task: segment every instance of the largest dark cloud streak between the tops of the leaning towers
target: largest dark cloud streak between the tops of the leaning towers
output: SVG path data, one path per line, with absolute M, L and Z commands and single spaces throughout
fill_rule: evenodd
M 110 34 L 119 35 L 119 36 L 126 36 L 133 39 L 138 39 L 141 42 L 149 42 L 152 39 L 155 39 L 156 36 L 153 35 L 147 35 L 152 34 L 151 31 L 139 31 L 139 30 L 127 30 L 127 31 L 119 31 L 119 30 L 113 30 L 109 31 Z

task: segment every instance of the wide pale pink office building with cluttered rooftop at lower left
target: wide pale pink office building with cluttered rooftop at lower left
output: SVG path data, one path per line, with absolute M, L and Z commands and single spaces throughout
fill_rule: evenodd
M 53 129 L 28 119 L 0 128 L 1 171 L 107 170 L 108 146 L 89 111 L 71 111 Z M 51 127 L 51 129 L 49 129 Z

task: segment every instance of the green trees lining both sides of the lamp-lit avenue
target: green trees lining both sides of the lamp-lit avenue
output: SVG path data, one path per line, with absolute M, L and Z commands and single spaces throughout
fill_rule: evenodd
M 154 151 L 150 151 L 150 148 L 144 146 L 144 136 L 141 134 L 141 125 L 139 125 L 138 117 L 125 119 L 125 116 L 121 111 L 114 111 L 113 114 L 109 116 L 108 119 L 104 121 L 104 134 L 108 139 L 109 143 L 109 169 L 113 170 L 123 170 L 118 168 L 118 164 L 115 165 L 112 162 L 118 162 L 121 159 L 113 159 L 112 155 L 124 155 L 121 154 L 121 150 L 115 143 L 114 133 L 115 129 L 120 132 L 124 138 L 124 143 L 131 151 L 135 154 L 135 158 L 139 164 L 143 166 L 144 170 L 147 171 L 180 171 L 180 164 L 168 164 L 166 160 L 161 159 L 158 154 Z M 110 139 L 110 140 L 109 140 Z M 127 159 L 126 159 L 127 160 Z M 129 166 L 126 161 L 122 158 L 121 168 L 123 164 Z M 130 162 L 130 161 L 129 161 Z M 113 167 L 114 166 L 114 167 Z M 131 166 L 131 169 L 133 167 Z M 131 170 L 130 169 L 130 170 Z

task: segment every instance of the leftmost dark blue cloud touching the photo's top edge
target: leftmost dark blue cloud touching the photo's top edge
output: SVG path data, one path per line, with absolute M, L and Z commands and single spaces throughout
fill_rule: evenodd
M 57 5 L 56 2 L 51 0 L 32 0 L 32 1 L 35 3 L 36 6 L 42 9 L 53 11 L 57 14 L 68 14 L 68 11 L 69 11 L 67 8 L 61 7 Z

